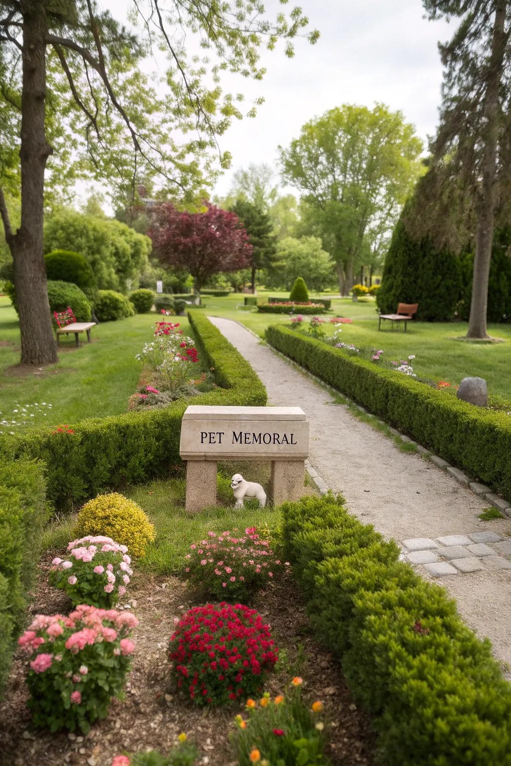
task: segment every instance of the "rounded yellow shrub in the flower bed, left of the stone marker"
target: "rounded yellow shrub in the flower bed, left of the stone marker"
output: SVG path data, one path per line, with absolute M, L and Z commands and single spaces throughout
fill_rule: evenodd
M 154 527 L 133 500 L 113 492 L 86 502 L 78 513 L 77 536 L 105 535 L 127 545 L 133 556 L 146 555 L 146 545 L 155 538 Z

